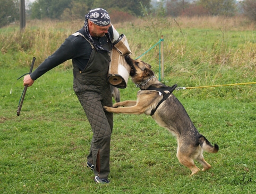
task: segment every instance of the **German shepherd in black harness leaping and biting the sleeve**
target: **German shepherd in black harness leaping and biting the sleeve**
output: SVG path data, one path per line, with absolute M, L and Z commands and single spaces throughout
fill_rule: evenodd
M 211 165 L 203 158 L 203 151 L 216 153 L 219 147 L 217 144 L 211 145 L 198 132 L 183 105 L 171 94 L 177 85 L 167 87 L 162 84 L 146 62 L 134 60 L 130 56 L 126 56 L 125 61 L 131 66 L 132 81 L 141 89 L 138 91 L 137 100 L 121 101 L 113 107 L 105 106 L 105 110 L 110 113 L 151 115 L 160 126 L 177 137 L 178 161 L 192 171 L 191 175 L 200 171 L 194 160 L 202 164 L 202 171 L 210 169 Z

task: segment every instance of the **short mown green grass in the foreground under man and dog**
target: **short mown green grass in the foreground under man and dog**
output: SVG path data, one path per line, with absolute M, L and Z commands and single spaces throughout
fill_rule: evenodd
M 86 168 L 92 133 L 72 90 L 71 70 L 39 78 L 18 117 L 23 87 L 21 80 L 13 83 L 24 71 L 5 70 L 2 76 L 0 193 L 255 192 L 255 101 L 184 98 L 183 91 L 174 91 L 198 130 L 220 147 L 217 154 L 204 154 L 212 169 L 193 177 L 176 158 L 175 138 L 152 118 L 115 115 L 111 183 L 98 186 Z M 129 80 L 122 100 L 135 99 L 137 90 Z M 242 190 L 243 173 L 252 182 Z

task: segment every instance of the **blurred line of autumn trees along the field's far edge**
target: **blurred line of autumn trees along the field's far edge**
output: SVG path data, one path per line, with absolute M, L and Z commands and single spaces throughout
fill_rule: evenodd
M 0 27 L 19 21 L 20 0 L 0 1 Z M 147 13 L 156 16 L 243 14 L 256 22 L 255 0 L 36 0 L 27 7 L 29 19 L 81 19 L 95 7 L 105 8 L 113 22 L 131 20 Z

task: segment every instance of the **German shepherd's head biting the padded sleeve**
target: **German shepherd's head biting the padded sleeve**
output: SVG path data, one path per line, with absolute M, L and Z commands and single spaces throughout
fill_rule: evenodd
M 125 56 L 125 61 L 131 66 L 130 76 L 134 82 L 144 81 L 154 75 L 153 71 L 150 69 L 150 64 L 140 59 L 134 60 L 127 55 Z

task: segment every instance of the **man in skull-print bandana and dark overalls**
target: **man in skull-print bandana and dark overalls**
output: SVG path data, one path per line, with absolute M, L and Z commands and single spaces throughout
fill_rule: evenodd
M 109 183 L 113 114 L 104 112 L 103 106 L 112 107 L 107 75 L 112 43 L 118 38 L 119 34 L 110 23 L 107 11 L 103 8 L 91 10 L 86 15 L 83 28 L 70 35 L 52 56 L 23 80 L 24 86 L 31 86 L 45 72 L 72 59 L 73 89 L 93 132 L 87 166 L 95 173 L 97 183 Z

